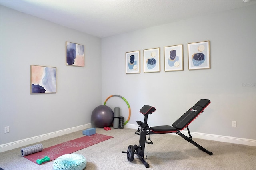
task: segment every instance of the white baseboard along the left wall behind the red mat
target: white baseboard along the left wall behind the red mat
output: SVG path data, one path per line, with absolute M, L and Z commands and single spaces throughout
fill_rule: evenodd
M 77 127 L 67 128 L 67 129 L 64 129 L 64 130 L 59 130 L 59 131 L 56 131 L 56 132 L 47 133 L 47 134 L 43 134 L 43 135 L 40 135 L 40 136 L 35 136 L 35 137 L 32 137 L 32 138 L 26 138 L 26 139 L 23 139 L 23 140 L 10 142 L 10 143 L 7 143 L 7 144 L 1 144 L 0 145 L 0 152 L 5 152 L 5 151 L 8 151 L 8 150 L 12 150 L 12 149 L 19 148 L 19 147 L 22 147 L 22 146 L 34 144 L 34 143 L 37 143 L 37 142 L 42 142 L 43 140 L 47 140 L 47 139 L 50 139 L 50 138 L 55 138 L 55 137 L 58 137 L 58 136 L 62 136 L 62 135 L 69 134 L 69 133 L 72 133 L 72 132 L 77 132 L 79 130 L 84 130 L 84 129 L 91 128 L 91 127 L 92 127 L 92 124 L 89 123 L 89 124 L 86 124 L 86 125 L 80 125 L 80 126 L 77 126 Z

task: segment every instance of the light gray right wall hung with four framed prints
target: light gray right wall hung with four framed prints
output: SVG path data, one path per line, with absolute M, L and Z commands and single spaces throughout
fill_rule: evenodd
M 102 39 L 102 101 L 121 95 L 136 124 L 140 108 L 156 107 L 150 126 L 172 125 L 199 99 L 212 102 L 190 124 L 192 132 L 256 139 L 255 5 Z M 211 69 L 188 70 L 188 43 L 210 41 Z M 183 44 L 184 71 L 164 72 L 164 47 Z M 143 72 L 143 50 L 160 47 L 160 73 Z M 125 73 L 125 53 L 140 50 L 140 74 Z M 121 108 L 112 97 L 106 105 Z M 237 127 L 231 122 L 237 121 Z

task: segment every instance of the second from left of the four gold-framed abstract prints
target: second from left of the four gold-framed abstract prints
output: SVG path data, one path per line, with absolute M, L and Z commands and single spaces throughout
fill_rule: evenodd
M 160 48 L 144 49 L 144 73 L 160 72 Z

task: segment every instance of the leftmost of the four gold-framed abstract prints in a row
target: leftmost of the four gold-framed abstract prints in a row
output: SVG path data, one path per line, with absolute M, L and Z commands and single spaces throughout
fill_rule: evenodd
M 126 74 L 140 73 L 140 51 L 125 53 Z

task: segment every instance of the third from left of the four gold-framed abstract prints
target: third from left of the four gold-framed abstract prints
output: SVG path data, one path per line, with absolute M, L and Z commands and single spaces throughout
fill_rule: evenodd
M 164 47 L 164 71 L 183 71 L 183 45 Z

